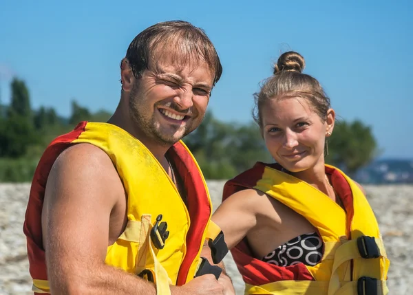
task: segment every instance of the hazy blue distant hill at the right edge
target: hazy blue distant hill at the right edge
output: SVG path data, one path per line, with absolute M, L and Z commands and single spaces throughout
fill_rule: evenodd
M 354 179 L 363 184 L 413 184 L 413 160 L 377 160 Z

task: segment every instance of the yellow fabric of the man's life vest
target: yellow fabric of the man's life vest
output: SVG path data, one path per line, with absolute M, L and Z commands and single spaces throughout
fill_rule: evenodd
M 154 274 L 157 294 L 170 294 L 169 284 L 176 285 L 180 265 L 187 253 L 186 238 L 191 225 L 187 206 L 175 184 L 146 146 L 112 124 L 88 122 L 85 131 L 72 143 L 89 143 L 105 151 L 114 163 L 128 196 L 127 226 L 118 240 L 107 248 L 105 263 L 137 275 L 150 270 Z M 183 142 L 180 144 L 199 170 L 190 151 Z M 209 199 L 211 219 L 211 199 L 202 173 L 200 175 Z M 162 221 L 167 222 L 169 230 L 162 250 L 153 246 L 149 235 L 158 215 L 162 215 Z M 207 228 L 189 268 L 187 281 L 195 276 Z M 34 283 L 36 289 L 43 287 L 45 285 L 40 281 Z

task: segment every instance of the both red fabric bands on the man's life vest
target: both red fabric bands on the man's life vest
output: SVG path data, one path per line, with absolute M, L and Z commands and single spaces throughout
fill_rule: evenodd
M 28 259 L 32 278 L 47 280 L 41 229 L 41 212 L 47 177 L 56 158 L 85 131 L 86 124 L 87 122 L 79 123 L 74 131 L 59 136 L 47 146 L 34 173 L 23 224 L 23 232 L 27 237 Z M 188 210 L 191 217 L 191 227 L 187 234 L 187 254 L 184 261 L 182 261 L 178 274 L 178 285 L 183 285 L 187 279 L 189 267 L 191 267 L 196 254 L 198 254 L 201 243 L 203 243 L 202 235 L 211 215 L 211 207 L 202 177 L 184 146 L 178 142 L 169 149 L 168 155 L 176 164 L 178 173 L 182 177 L 187 190 Z

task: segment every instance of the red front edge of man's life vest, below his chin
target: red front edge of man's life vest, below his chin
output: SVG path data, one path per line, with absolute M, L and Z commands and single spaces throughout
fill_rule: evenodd
M 184 285 L 189 269 L 198 255 L 204 241 L 202 237 L 207 228 L 211 206 L 201 174 L 187 149 L 177 142 L 169 149 L 167 155 L 175 164 L 187 193 L 187 206 L 191 226 L 187 233 L 187 254 L 180 265 L 176 285 Z M 180 158 L 180 160 L 178 160 Z

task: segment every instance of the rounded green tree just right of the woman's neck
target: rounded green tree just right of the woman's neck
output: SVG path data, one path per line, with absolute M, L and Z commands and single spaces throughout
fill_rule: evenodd
M 337 122 L 328 139 L 326 162 L 354 175 L 377 157 L 379 151 L 371 127 L 360 120 Z

